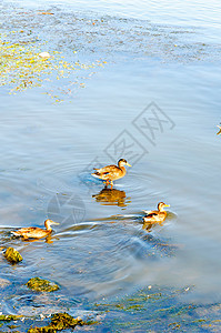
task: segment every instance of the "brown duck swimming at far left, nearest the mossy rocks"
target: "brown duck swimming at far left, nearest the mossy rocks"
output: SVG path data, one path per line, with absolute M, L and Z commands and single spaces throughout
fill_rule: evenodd
M 18 231 L 12 231 L 12 234 L 16 236 L 22 236 L 24 240 L 28 239 L 44 239 L 52 232 L 52 224 L 59 224 L 50 219 L 44 221 L 46 229 L 37 228 L 37 226 L 29 226 L 29 228 L 21 228 Z

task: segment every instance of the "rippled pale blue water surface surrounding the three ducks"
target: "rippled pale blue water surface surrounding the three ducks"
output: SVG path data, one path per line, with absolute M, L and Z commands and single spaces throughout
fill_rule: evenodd
M 1 278 L 17 287 L 50 279 L 63 302 L 147 285 L 194 285 L 189 301 L 220 302 L 219 1 L 3 1 L 1 9 L 3 31 L 37 29 L 69 59 L 74 43 L 80 59 L 107 61 L 61 103 L 38 88 L 0 90 L 0 235 L 24 259 L 16 268 L 2 259 Z M 54 16 L 20 19 L 39 9 Z M 119 158 L 132 168 L 102 191 L 92 168 Z M 142 210 L 159 201 L 171 205 L 169 216 L 148 233 Z M 10 236 L 47 216 L 60 222 L 48 242 Z M 30 294 L 6 292 L 2 311 L 47 309 L 48 299 L 36 310 Z

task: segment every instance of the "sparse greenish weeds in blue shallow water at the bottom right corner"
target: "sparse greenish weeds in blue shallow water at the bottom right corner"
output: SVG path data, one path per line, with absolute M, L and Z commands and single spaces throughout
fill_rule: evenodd
M 221 304 L 197 305 L 183 302 L 182 296 L 192 289 L 145 287 L 118 302 L 97 303 L 96 307 L 106 312 L 111 332 L 201 332 L 205 327 L 218 332 Z

